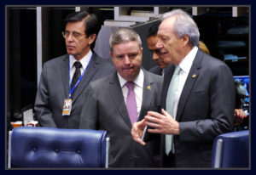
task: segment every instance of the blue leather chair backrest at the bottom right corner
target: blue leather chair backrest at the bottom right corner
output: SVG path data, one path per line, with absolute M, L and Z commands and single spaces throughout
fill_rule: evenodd
M 220 134 L 214 139 L 212 167 L 248 167 L 249 131 Z

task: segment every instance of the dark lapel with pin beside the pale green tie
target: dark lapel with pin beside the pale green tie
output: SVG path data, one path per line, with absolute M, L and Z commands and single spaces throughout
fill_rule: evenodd
M 200 68 L 201 68 L 201 51 L 198 50 L 195 60 L 193 62 L 193 65 L 191 66 L 191 69 L 189 71 L 189 76 L 187 77 L 187 80 L 184 84 L 183 91 L 181 93 L 181 96 L 178 101 L 177 105 L 177 115 L 176 120 L 180 121 L 181 116 L 183 113 L 184 106 L 187 102 L 187 99 L 189 98 L 189 94 L 191 93 L 191 89 L 193 88 L 195 81 L 197 80 L 197 77 L 200 74 Z

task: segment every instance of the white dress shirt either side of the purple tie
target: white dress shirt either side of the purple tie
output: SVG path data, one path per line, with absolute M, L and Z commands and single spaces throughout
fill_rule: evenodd
M 126 104 L 128 88 L 125 86 L 125 83 L 127 81 L 122 76 L 120 76 L 119 73 L 118 73 L 118 77 L 119 77 L 120 87 L 122 88 L 122 92 L 123 92 L 123 96 L 124 96 L 125 104 Z M 142 103 L 143 103 L 144 73 L 142 70 L 140 70 L 139 75 L 133 82 L 134 82 L 134 93 L 136 96 L 136 103 L 137 103 L 137 115 L 139 116 L 140 112 L 141 112 Z

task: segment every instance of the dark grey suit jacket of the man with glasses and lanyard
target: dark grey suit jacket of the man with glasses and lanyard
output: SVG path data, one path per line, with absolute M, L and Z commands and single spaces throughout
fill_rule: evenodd
M 34 106 L 38 122 L 42 127 L 79 128 L 82 99 L 87 91 L 87 85 L 115 70 L 108 60 L 93 53 L 84 77 L 73 93 L 71 115 L 62 116 L 62 105 L 69 94 L 68 65 L 67 54 L 44 64 Z

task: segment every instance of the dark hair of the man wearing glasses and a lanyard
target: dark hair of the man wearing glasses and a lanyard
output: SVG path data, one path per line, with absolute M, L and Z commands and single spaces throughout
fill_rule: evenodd
M 76 22 L 76 21 L 82 21 L 84 20 L 84 33 L 87 37 L 89 37 L 91 34 L 96 34 L 96 37 L 98 36 L 99 31 L 102 28 L 102 25 L 99 23 L 99 21 L 96 18 L 96 14 L 89 14 L 87 11 L 80 11 L 80 12 L 73 12 L 71 14 L 68 14 L 65 19 L 65 26 L 68 22 Z M 90 45 L 90 48 L 94 48 L 95 41 Z

